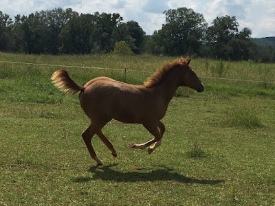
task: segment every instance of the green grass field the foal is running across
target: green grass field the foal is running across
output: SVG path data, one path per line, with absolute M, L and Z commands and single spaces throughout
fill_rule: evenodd
M 112 121 L 103 132 L 118 158 L 95 136 L 104 165 L 92 167 L 81 138 L 89 119 L 77 95 L 52 86 L 52 73 L 66 69 L 80 84 L 96 76 L 124 80 L 126 65 L 126 82 L 142 84 L 166 60 L 173 58 L 0 53 L 0 205 L 275 205 L 271 64 L 193 59 L 205 91 L 177 91 L 162 146 L 151 155 L 131 150 L 129 143 L 150 134 Z

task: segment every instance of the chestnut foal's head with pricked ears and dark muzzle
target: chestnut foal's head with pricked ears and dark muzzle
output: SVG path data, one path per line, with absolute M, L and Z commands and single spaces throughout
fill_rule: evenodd
M 203 83 L 199 80 L 195 71 L 189 67 L 191 59 L 189 58 L 186 62 L 180 65 L 181 69 L 181 86 L 190 87 L 191 89 L 202 92 L 204 90 Z

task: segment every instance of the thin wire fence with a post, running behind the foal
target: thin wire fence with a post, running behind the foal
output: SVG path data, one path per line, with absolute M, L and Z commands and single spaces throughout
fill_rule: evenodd
M 139 72 L 139 73 L 152 73 L 151 71 L 140 71 L 135 69 L 126 69 L 126 65 L 124 69 L 117 68 L 107 68 L 107 67 L 82 67 L 82 66 L 72 66 L 72 65 L 51 65 L 51 64 L 38 64 L 38 63 L 30 63 L 30 62 L 11 62 L 11 61 L 1 61 L 1 63 L 7 64 L 18 64 L 18 65 L 34 65 L 34 66 L 43 66 L 43 67 L 63 67 L 63 68 L 79 68 L 79 69 L 101 69 L 101 70 L 111 70 L 111 71 L 121 71 L 124 72 L 124 76 L 126 78 L 126 71 Z M 226 81 L 238 81 L 238 82 L 254 82 L 254 83 L 265 83 L 265 84 L 275 84 L 275 82 L 269 81 L 258 81 L 258 80 L 243 80 L 243 79 L 234 79 L 234 78 L 219 78 L 212 76 L 200 76 L 200 78 L 214 79 L 214 80 L 226 80 Z

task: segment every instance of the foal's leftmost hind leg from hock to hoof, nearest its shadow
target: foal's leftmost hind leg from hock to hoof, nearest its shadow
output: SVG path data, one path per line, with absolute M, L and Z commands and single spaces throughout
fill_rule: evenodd
M 87 149 L 89 151 L 89 154 L 94 161 L 96 161 L 97 165 L 102 165 L 102 161 L 98 158 L 96 155 L 96 152 L 94 151 L 93 146 L 91 146 L 91 137 L 93 137 L 96 132 L 98 131 L 98 127 L 96 124 L 91 124 L 87 130 L 82 134 L 83 140 L 85 141 L 85 144 L 87 146 Z

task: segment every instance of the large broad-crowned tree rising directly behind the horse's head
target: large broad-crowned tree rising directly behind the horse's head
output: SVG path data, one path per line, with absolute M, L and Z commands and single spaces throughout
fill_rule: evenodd
M 207 23 L 203 14 L 188 8 L 164 11 L 166 24 L 154 32 L 151 50 L 164 51 L 164 55 L 177 56 L 199 53 Z

